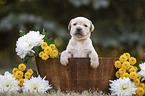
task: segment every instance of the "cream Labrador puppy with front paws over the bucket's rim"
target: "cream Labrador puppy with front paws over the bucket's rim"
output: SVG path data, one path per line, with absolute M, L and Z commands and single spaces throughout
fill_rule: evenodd
M 70 21 L 68 30 L 72 37 L 66 50 L 61 53 L 61 64 L 66 66 L 71 57 L 85 58 L 89 56 L 91 67 L 97 68 L 99 66 L 98 54 L 90 39 L 91 32 L 94 30 L 92 22 L 85 17 L 76 17 Z

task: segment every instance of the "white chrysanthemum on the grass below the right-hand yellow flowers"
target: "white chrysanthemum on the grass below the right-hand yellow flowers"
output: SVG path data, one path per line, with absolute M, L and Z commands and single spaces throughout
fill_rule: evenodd
M 136 94 L 135 91 L 137 90 L 137 87 L 129 78 L 119 78 L 114 81 L 110 80 L 110 82 L 111 88 L 109 88 L 109 90 L 111 90 L 111 95 L 132 96 L 132 94 Z

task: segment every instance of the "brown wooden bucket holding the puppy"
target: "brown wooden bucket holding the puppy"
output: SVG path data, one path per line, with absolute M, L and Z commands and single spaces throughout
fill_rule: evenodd
M 82 92 L 102 90 L 109 92 L 109 80 L 114 79 L 116 58 L 99 58 L 97 69 L 90 67 L 89 58 L 70 58 L 67 66 L 60 64 L 59 58 L 47 61 L 36 58 L 40 76 L 46 76 L 52 87 L 61 91 Z

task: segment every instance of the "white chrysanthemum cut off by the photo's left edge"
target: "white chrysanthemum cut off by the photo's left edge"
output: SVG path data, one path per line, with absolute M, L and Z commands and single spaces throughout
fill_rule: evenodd
M 7 71 L 4 75 L 0 75 L 0 93 L 16 93 L 20 90 L 19 81 L 12 78 L 12 76 Z

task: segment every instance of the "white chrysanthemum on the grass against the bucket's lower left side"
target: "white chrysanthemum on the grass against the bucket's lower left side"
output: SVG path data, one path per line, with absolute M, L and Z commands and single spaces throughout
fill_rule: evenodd
M 23 84 L 23 92 L 25 93 L 45 93 L 47 90 L 51 89 L 49 82 L 47 80 L 44 80 L 46 77 L 43 79 L 38 76 L 38 77 L 33 77 L 30 80 L 25 79 L 24 84 Z

